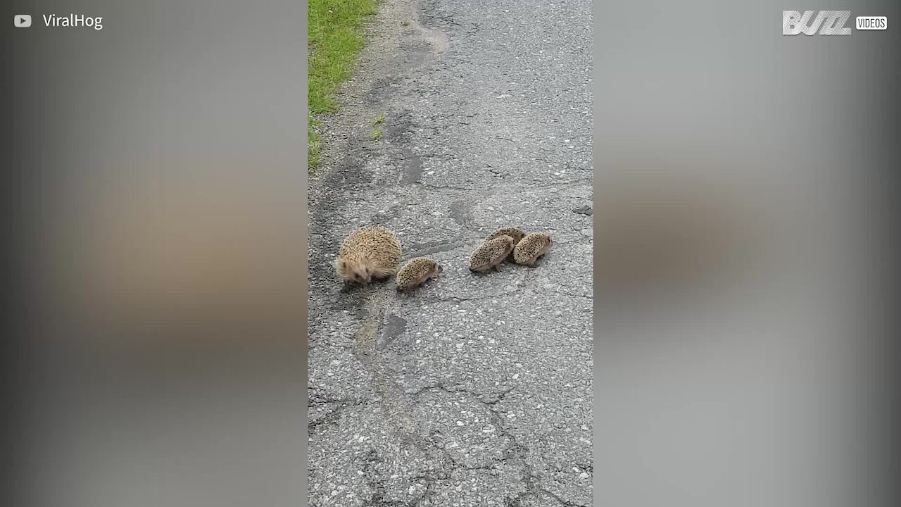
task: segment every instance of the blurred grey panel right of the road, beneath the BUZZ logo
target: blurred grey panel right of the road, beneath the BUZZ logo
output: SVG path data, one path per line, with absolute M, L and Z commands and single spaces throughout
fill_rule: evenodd
M 600 4 L 596 504 L 889 504 L 893 25 Z

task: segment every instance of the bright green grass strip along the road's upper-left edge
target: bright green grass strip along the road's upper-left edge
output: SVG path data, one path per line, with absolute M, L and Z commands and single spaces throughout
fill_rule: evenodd
M 309 110 L 307 125 L 309 165 L 319 161 L 320 135 L 315 132 L 315 115 L 333 113 L 340 106 L 334 95 L 350 78 L 365 43 L 363 30 L 368 16 L 376 14 L 378 0 L 309 0 L 308 74 Z

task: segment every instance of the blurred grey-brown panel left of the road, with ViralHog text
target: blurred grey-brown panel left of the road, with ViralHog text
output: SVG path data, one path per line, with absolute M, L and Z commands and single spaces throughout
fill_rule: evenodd
M 4 504 L 298 505 L 305 4 L 13 7 Z

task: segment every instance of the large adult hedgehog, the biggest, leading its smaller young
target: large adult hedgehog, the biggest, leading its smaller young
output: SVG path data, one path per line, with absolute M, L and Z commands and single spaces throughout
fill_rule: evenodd
M 335 261 L 335 271 L 345 281 L 369 283 L 397 272 L 400 242 L 383 226 L 362 226 L 350 233 Z

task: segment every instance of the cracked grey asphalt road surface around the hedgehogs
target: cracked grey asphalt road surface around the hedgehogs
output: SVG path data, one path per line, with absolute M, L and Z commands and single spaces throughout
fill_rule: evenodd
M 590 27 L 587 0 L 381 5 L 310 174 L 310 505 L 592 503 Z M 366 224 L 441 276 L 342 290 Z M 470 273 L 500 226 L 551 252 Z

